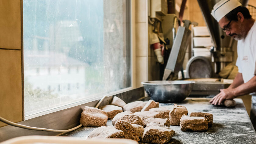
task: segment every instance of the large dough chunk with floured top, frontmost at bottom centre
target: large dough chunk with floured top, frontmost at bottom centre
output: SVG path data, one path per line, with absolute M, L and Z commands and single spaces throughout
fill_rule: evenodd
M 147 143 L 164 144 L 171 140 L 174 133 L 175 132 L 171 128 L 152 122 L 149 123 L 146 128 L 144 128 L 141 141 Z

